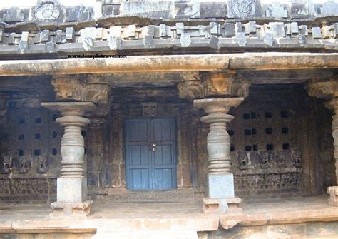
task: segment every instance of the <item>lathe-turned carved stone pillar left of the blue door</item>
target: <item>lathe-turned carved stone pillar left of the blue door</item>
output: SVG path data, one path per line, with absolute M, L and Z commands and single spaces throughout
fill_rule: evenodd
M 41 103 L 41 106 L 60 111 L 63 117 L 56 122 L 64 127 L 61 139 L 61 176 L 57 180 L 57 201 L 51 203 L 56 215 L 88 215 L 91 201 L 87 200 L 87 178 L 84 156 L 84 139 L 81 127 L 89 123 L 83 117 L 94 111 L 96 106 L 91 102 L 56 102 Z

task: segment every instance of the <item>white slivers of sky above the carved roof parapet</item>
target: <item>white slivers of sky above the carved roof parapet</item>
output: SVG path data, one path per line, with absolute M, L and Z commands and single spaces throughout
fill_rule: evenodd
M 36 5 L 36 1 L 37 0 L 0 0 L 0 8 L 4 8 L 4 7 L 11 7 L 11 6 L 35 6 Z M 62 5 L 66 5 L 66 6 L 76 6 L 76 5 L 88 5 L 90 6 L 91 4 L 95 3 L 96 0 L 59 0 L 61 2 Z M 152 0 L 150 0 L 152 1 Z M 168 0 L 170 1 L 170 0 Z M 200 0 L 200 1 L 227 1 L 227 0 Z M 260 2 L 262 4 L 269 4 L 273 1 L 277 1 L 280 3 L 286 3 L 289 2 L 290 0 L 261 0 Z M 312 0 L 313 2 L 325 2 L 327 0 Z M 334 0 L 336 2 L 338 2 L 338 0 Z

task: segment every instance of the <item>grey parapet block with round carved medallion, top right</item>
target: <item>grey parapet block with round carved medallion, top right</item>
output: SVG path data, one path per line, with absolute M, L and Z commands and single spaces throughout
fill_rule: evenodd
M 262 16 L 260 0 L 229 0 L 227 16 L 235 19 Z

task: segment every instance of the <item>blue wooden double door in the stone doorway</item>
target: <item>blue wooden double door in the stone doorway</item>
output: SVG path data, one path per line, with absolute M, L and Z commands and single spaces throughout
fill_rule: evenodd
M 126 120 L 128 190 L 176 188 L 175 120 Z

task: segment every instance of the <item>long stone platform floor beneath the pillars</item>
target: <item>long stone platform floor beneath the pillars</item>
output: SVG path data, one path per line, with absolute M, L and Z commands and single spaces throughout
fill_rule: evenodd
M 338 208 L 327 205 L 327 196 L 247 200 L 242 208 L 242 213 L 218 216 L 204 215 L 202 200 L 184 203 L 97 200 L 93 203 L 93 214 L 87 218 L 49 218 L 48 205 L 1 204 L 0 238 L 14 234 L 16 238 L 39 238 L 37 235 L 40 238 L 198 238 L 212 231 L 222 231 L 225 236 L 228 231 L 256 225 L 264 228 L 338 222 Z M 228 228 L 231 229 L 224 230 Z

